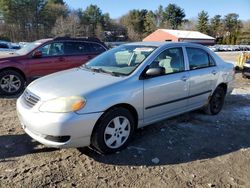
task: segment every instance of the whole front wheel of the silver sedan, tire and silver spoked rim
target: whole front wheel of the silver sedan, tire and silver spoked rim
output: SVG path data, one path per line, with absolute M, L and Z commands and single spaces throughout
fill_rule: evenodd
M 103 154 L 124 149 L 135 129 L 135 119 L 125 108 L 112 108 L 97 122 L 91 137 L 91 144 Z

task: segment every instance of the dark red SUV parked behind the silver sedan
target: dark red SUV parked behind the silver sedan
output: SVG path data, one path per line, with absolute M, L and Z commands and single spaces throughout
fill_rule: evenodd
M 106 50 L 97 38 L 59 37 L 38 40 L 8 55 L 0 55 L 0 94 L 18 94 L 26 83 L 78 67 Z

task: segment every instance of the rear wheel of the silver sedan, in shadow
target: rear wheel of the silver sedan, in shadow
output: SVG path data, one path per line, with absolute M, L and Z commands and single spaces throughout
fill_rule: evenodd
M 204 107 L 204 112 L 209 115 L 218 114 L 224 105 L 225 96 L 225 90 L 222 87 L 217 87 L 208 104 Z

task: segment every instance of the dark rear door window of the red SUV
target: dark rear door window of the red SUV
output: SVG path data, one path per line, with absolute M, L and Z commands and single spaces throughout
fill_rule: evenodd
M 90 48 L 85 42 L 65 42 L 64 52 L 66 55 L 82 55 L 89 53 Z

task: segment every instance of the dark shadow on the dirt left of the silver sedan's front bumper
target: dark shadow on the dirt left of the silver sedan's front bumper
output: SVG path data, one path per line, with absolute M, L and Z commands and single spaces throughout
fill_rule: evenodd
M 32 153 L 52 152 L 57 149 L 46 148 L 33 141 L 28 135 L 0 135 L 0 162 L 9 158 L 20 157 Z

